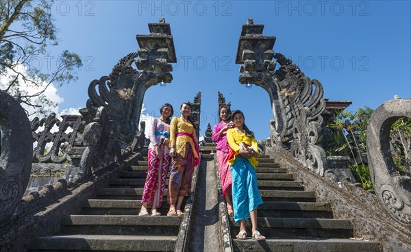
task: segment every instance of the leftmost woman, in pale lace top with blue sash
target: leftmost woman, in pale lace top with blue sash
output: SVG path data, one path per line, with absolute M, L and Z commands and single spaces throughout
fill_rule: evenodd
M 166 185 L 167 174 L 169 173 L 170 155 L 170 117 L 173 116 L 173 106 L 169 103 L 160 108 L 161 117 L 153 118 L 151 131 L 149 132 L 149 157 L 147 177 L 142 192 L 141 210 L 138 215 L 149 215 L 147 207 L 151 207 L 151 215 L 161 215 L 157 207 L 161 206 Z

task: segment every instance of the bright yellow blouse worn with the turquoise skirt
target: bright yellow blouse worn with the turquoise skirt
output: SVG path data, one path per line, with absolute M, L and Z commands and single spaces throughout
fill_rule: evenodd
M 256 138 L 250 138 L 249 136 L 246 136 L 245 133 L 239 132 L 236 128 L 227 130 L 227 142 L 229 144 L 229 147 L 231 147 L 231 149 L 233 149 L 233 151 L 235 151 L 236 154 L 240 153 L 241 147 L 238 144 L 240 144 L 241 142 L 245 142 L 248 146 L 251 146 L 251 148 L 253 148 L 254 151 L 257 151 L 258 153 Z M 258 156 L 260 156 L 260 153 L 258 153 Z M 248 160 L 250 164 L 254 168 L 256 168 L 256 166 L 258 165 L 256 157 L 250 157 Z M 236 161 L 236 157 L 233 157 L 231 160 L 228 160 L 228 164 L 233 165 L 234 161 Z

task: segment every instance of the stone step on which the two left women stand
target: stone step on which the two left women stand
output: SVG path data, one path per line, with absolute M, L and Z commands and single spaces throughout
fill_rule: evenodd
M 66 234 L 177 236 L 182 216 L 71 215 L 62 219 Z

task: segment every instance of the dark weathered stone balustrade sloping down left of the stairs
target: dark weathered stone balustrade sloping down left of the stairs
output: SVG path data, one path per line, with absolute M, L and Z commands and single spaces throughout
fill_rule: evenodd
M 0 236 L 0 251 L 26 251 L 27 244 L 34 236 L 56 234 L 65 216 L 77 214 L 88 199 L 95 197 L 98 188 L 107 186 L 109 177 L 117 176 L 125 166 L 129 166 L 129 162 L 136 162 L 138 159 L 142 159 L 139 153 L 127 157 L 126 160 L 113 167 L 112 170 L 103 171 L 99 176 L 80 184 L 58 201 L 53 201 L 55 197 L 44 197 L 45 199 L 42 199 L 43 197 L 39 192 L 29 193 L 23 198 L 25 207 L 18 214 L 18 218 L 14 219 L 10 225 L 0 228 L 2 234 Z M 62 183 L 60 186 L 58 183 L 53 185 L 53 190 L 57 193 L 60 190 L 66 192 L 65 181 L 62 179 L 60 182 Z M 48 189 L 45 189 L 45 193 L 51 192 L 49 186 L 46 188 Z M 46 192 L 46 190 L 49 192 Z M 59 194 L 59 196 L 61 195 Z

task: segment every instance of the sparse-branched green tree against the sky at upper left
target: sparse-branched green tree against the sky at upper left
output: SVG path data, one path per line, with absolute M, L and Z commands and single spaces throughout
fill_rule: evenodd
M 75 71 L 82 66 L 79 55 L 69 51 L 61 53 L 57 66 L 50 71 L 29 65 L 34 57 L 49 56 L 49 47 L 58 45 L 52 4 L 48 0 L 0 1 L 0 90 L 42 114 L 47 113 L 44 105 L 56 105 L 45 96 L 45 90 L 51 84 L 62 86 L 75 81 Z M 30 86 L 38 92 L 27 92 L 25 87 Z

